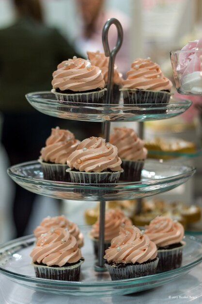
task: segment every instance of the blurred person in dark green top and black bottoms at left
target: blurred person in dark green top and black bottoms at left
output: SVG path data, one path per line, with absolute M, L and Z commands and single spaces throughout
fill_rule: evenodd
M 57 65 L 79 56 L 58 30 L 44 25 L 40 0 L 13 0 L 13 4 L 15 23 L 0 29 L 1 142 L 10 165 L 38 159 L 51 127 L 59 125 L 58 118 L 34 110 L 25 94 L 50 90 Z M 14 186 L 13 217 L 19 237 L 24 234 L 36 195 Z

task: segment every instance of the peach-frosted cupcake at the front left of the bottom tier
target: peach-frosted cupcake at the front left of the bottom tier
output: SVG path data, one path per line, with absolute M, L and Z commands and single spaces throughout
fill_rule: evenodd
M 84 259 L 77 240 L 67 228 L 55 228 L 42 234 L 30 254 L 36 277 L 79 281 Z

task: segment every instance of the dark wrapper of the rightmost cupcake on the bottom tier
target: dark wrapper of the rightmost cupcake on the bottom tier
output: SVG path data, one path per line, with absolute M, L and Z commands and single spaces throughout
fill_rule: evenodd
M 186 242 L 181 242 L 182 246 L 172 249 L 161 249 L 157 251 L 159 258 L 157 273 L 169 271 L 181 267 L 183 248 Z

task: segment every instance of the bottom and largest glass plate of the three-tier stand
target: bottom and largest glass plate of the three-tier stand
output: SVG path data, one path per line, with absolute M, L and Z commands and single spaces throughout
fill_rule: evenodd
M 79 282 L 55 281 L 36 278 L 31 257 L 34 237 L 24 236 L 0 246 L 0 272 L 13 282 L 37 291 L 74 296 L 109 296 L 134 293 L 164 284 L 190 271 L 202 261 L 202 240 L 194 236 L 185 236 L 182 266 L 167 272 L 126 280 L 111 281 L 108 272 L 95 272 L 93 244 L 88 238 L 88 227 L 82 227 L 85 245 L 82 255 L 85 259 L 81 265 Z

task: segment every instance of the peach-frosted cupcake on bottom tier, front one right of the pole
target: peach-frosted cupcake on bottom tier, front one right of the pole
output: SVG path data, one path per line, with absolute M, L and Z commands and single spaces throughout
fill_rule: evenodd
M 105 266 L 112 280 L 137 278 L 156 273 L 157 248 L 135 226 L 120 227 L 120 235 L 111 240 L 105 251 Z

